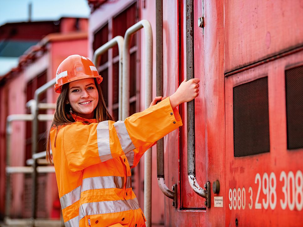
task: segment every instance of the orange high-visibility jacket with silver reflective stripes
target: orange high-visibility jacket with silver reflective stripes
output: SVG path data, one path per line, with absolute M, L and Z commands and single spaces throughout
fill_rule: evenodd
M 50 132 L 65 226 L 145 226 L 130 168 L 181 117 L 166 98 L 125 121 L 95 122 L 78 117 Z

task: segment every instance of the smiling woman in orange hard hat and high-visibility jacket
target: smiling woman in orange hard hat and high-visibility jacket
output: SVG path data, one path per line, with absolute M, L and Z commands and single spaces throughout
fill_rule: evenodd
M 64 223 L 145 226 L 130 168 L 158 139 L 182 125 L 176 107 L 198 96 L 199 79 L 183 81 L 169 98 L 156 97 L 150 108 L 117 122 L 106 110 L 101 82 L 94 64 L 80 55 L 66 58 L 56 73 L 60 95 L 47 159 L 51 161 L 51 146 Z

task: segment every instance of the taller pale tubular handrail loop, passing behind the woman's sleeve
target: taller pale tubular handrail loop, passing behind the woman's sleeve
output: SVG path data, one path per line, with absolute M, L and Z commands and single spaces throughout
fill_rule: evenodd
M 145 34 L 145 108 L 152 102 L 152 28 L 148 20 L 141 20 L 126 30 L 123 46 L 123 98 L 122 98 L 122 119 L 129 116 L 129 95 L 130 95 L 130 45 L 132 34 L 144 28 Z M 144 155 L 144 214 L 146 226 L 151 226 L 151 202 L 152 202 L 152 152 L 148 149 Z

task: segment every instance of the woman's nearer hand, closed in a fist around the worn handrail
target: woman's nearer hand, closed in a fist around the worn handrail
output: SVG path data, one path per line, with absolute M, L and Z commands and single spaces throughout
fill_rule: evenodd
M 196 98 L 199 95 L 199 82 L 200 79 L 198 78 L 193 78 L 188 81 L 185 79 L 177 91 L 169 97 L 172 108 Z

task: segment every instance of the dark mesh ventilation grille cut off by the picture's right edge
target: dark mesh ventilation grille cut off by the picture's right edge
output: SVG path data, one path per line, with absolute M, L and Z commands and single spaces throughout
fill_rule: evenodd
M 303 66 L 285 71 L 287 149 L 303 148 Z

